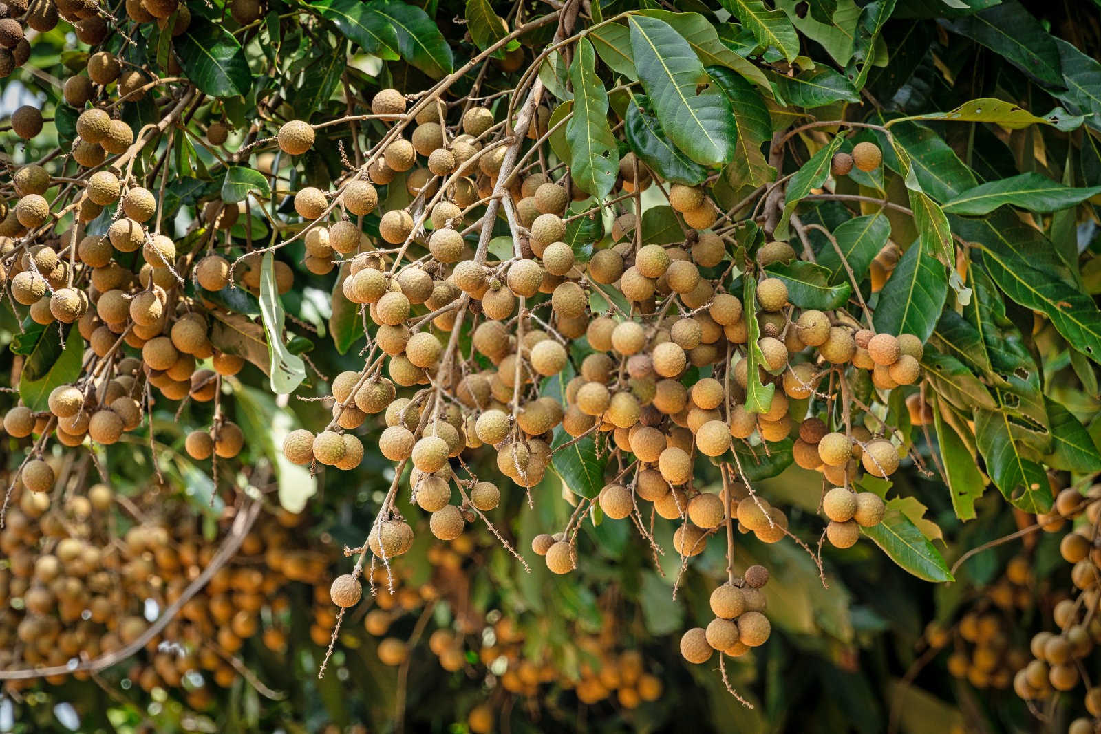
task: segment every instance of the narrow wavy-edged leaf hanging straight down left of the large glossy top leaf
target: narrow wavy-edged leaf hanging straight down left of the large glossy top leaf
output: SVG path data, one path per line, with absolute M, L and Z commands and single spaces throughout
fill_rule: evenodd
M 582 191 L 603 199 L 615 185 L 619 149 L 608 124 L 608 92 L 597 76 L 597 54 L 586 39 L 577 42 L 569 80 L 574 117 L 566 122 L 570 175 Z

